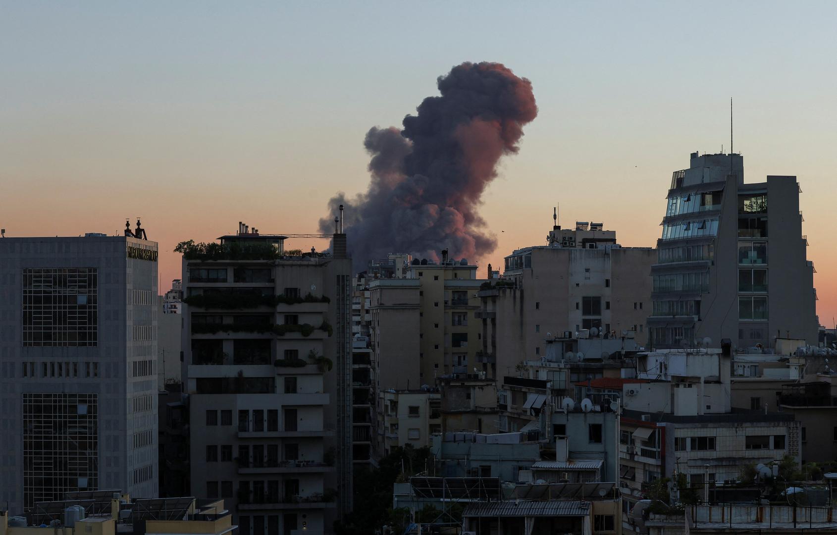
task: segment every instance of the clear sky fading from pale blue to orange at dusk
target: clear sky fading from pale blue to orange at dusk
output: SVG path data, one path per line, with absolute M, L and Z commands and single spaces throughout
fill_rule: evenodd
M 363 136 L 400 126 L 436 78 L 496 61 L 537 119 L 482 215 L 501 265 L 559 222 L 660 237 L 671 172 L 735 151 L 745 181 L 796 175 L 820 321 L 837 316 L 837 3 L 0 1 L 0 227 L 120 233 L 141 216 L 161 291 L 185 239 L 316 232 L 365 191 Z M 351 249 L 351 235 L 348 237 Z M 289 246 L 318 249 L 300 239 Z

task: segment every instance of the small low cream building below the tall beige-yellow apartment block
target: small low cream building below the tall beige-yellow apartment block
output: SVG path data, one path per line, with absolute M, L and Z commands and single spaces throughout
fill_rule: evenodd
M 382 455 L 397 446 L 422 448 L 442 432 L 441 394 L 437 388 L 384 390 L 381 393 L 379 434 Z

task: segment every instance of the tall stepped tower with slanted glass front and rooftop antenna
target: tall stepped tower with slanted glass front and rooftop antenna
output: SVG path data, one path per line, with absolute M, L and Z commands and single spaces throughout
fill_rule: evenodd
M 806 258 L 796 177 L 744 183 L 740 154 L 693 152 L 675 171 L 653 267 L 650 344 L 696 347 L 708 337 L 773 347 L 817 345 L 814 265 Z

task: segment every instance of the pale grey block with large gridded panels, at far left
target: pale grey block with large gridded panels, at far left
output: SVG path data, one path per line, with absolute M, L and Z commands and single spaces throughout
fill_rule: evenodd
M 67 491 L 157 496 L 157 243 L 133 236 L 0 239 L 0 503 L 13 512 Z

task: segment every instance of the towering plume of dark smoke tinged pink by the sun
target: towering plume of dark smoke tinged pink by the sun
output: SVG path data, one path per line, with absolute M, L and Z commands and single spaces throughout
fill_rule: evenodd
M 441 96 L 429 96 L 403 130 L 373 127 L 363 144 L 372 155 L 366 193 L 339 193 L 329 213 L 346 206 L 344 227 L 355 267 L 388 253 L 471 261 L 496 249 L 480 217 L 485 187 L 504 154 L 516 153 L 523 125 L 537 116 L 531 83 L 499 63 L 464 63 L 439 76 Z M 324 234 L 334 219 L 320 220 Z

